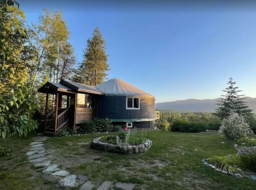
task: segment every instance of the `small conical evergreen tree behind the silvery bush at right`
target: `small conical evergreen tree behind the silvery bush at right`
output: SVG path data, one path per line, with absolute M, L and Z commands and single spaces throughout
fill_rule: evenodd
M 233 81 L 232 77 L 229 78 L 228 87 L 225 90 L 225 95 L 222 95 L 223 98 L 217 103 L 218 108 L 215 109 L 218 116 L 225 118 L 229 116 L 231 111 L 235 111 L 238 114 L 243 116 L 251 116 L 252 110 L 249 109 L 249 106 L 246 106 L 246 98 L 244 95 L 238 94 L 242 90 L 237 90 L 238 87 L 235 87 L 236 82 Z

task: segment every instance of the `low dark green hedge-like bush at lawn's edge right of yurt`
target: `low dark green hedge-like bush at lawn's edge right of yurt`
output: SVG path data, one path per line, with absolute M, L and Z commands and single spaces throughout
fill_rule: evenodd
M 206 126 L 202 122 L 188 122 L 184 119 L 173 119 L 170 125 L 171 131 L 183 133 L 199 133 L 206 130 Z

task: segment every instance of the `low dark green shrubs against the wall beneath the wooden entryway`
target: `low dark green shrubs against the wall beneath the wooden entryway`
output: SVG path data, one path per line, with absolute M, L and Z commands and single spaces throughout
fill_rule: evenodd
M 114 128 L 109 119 L 95 118 L 82 124 L 78 133 L 113 132 Z

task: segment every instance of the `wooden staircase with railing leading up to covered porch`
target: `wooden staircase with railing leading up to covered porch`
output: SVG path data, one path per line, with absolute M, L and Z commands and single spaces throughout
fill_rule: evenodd
M 61 111 L 61 109 L 58 109 L 58 112 Z M 56 111 L 52 111 L 52 113 L 47 115 L 47 123 L 45 125 L 45 132 L 44 135 L 46 136 L 54 136 L 58 130 L 65 126 L 65 124 L 68 124 L 70 120 L 70 107 L 62 111 L 57 117 Z

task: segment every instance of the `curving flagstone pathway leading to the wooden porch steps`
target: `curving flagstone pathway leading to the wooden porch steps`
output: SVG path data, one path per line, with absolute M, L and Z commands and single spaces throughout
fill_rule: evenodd
M 51 165 L 43 143 L 48 138 L 47 136 L 37 136 L 33 138 L 35 142 L 30 144 L 30 151 L 26 153 L 29 156 L 29 162 L 33 163 L 35 167 L 47 167 L 43 170 L 43 174 L 46 175 L 44 178 L 59 180 L 60 186 L 71 188 L 79 188 L 80 186 L 79 190 L 92 190 L 95 185 L 89 180 L 88 176 L 70 175 L 68 171 L 60 170 L 58 165 Z M 107 180 L 103 182 L 97 190 L 108 190 L 114 187 L 124 190 L 133 190 L 134 186 L 135 184 L 130 183 L 116 183 L 114 185 L 114 182 Z

